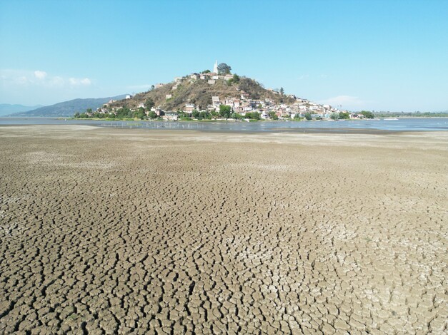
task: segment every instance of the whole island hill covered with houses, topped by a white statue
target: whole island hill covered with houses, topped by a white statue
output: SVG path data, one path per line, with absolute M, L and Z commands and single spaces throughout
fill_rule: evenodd
M 373 118 L 370 112 L 349 113 L 314 103 L 284 89 L 264 88 L 250 78 L 231 73 L 216 61 L 213 71 L 176 77 L 157 83 L 146 93 L 111 100 L 96 111 L 75 118 L 139 118 L 162 120 L 338 120 Z M 196 89 L 196 91 L 194 91 Z

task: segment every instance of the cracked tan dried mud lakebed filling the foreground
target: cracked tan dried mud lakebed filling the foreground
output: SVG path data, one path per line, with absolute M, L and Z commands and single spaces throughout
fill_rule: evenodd
M 0 333 L 443 334 L 448 138 L 0 128 Z

